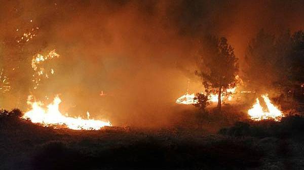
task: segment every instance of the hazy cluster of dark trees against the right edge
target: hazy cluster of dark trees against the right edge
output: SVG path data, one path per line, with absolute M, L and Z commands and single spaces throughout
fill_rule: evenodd
M 245 56 L 244 80 L 257 92 L 271 88 L 299 88 L 304 82 L 304 32 L 277 36 L 260 30 Z

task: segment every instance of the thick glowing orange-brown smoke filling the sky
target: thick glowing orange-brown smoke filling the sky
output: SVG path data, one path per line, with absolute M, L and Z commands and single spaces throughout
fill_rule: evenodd
M 90 111 L 114 125 L 165 125 L 174 101 L 203 90 L 196 69 L 201 36 L 226 36 L 241 60 L 250 39 L 304 27 L 303 2 L 280 1 L 15 1 L 0 7 L 0 66 L 12 81 L 4 107 L 60 94 L 62 110 Z M 16 38 L 32 27 L 36 37 Z M 18 29 L 18 31 L 16 31 Z M 30 61 L 56 49 L 56 73 L 32 89 Z M 17 68 L 12 70 L 12 68 Z M 15 102 L 16 101 L 16 102 Z M 18 102 L 19 101 L 19 102 Z

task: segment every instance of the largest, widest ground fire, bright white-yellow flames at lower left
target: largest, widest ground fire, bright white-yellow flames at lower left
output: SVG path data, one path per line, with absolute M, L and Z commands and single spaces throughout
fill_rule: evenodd
M 111 126 L 109 121 L 90 119 L 90 113 L 87 112 L 88 119 L 81 117 L 73 118 L 68 115 L 62 115 L 59 111 L 61 100 L 58 96 L 54 98 L 53 103 L 47 108 L 43 108 L 41 102 L 31 102 L 28 98 L 27 104 L 31 105 L 32 109 L 23 115 L 23 118 L 29 118 L 33 123 L 41 123 L 45 126 L 49 125 L 66 125 L 72 130 L 99 130 L 103 126 Z

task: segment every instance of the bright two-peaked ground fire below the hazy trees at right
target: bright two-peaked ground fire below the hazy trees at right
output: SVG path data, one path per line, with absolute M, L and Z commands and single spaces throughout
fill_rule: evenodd
M 262 120 L 262 119 L 269 119 L 273 118 L 275 121 L 280 121 L 280 119 L 284 116 L 283 113 L 274 106 L 270 99 L 268 98 L 268 95 L 262 95 L 261 96 L 268 108 L 267 111 L 263 111 L 262 106 L 260 105 L 260 102 L 258 98 L 256 98 L 255 104 L 252 106 L 251 109 L 248 110 L 248 114 L 252 120 Z

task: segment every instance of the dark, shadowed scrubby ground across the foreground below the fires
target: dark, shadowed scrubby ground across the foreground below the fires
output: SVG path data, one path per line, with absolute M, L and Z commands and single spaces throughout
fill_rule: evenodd
M 304 169 L 304 118 L 198 129 L 44 128 L 14 113 L 0 124 L 0 169 Z

